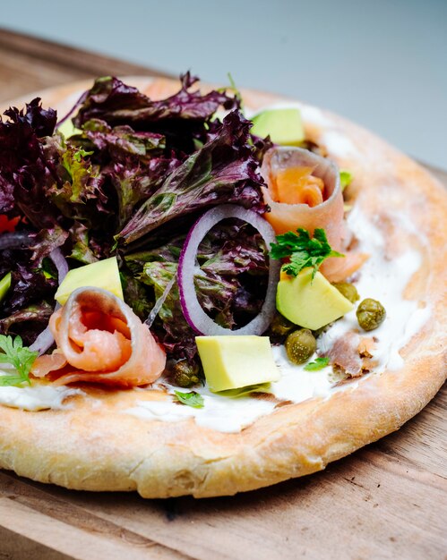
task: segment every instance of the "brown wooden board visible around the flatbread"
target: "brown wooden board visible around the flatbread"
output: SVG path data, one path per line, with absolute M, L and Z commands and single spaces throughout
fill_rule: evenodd
M 0 106 L 111 73 L 160 75 L 0 30 Z M 0 471 L 0 559 L 446 558 L 446 411 L 444 386 L 398 432 L 325 471 L 234 497 L 143 500 Z

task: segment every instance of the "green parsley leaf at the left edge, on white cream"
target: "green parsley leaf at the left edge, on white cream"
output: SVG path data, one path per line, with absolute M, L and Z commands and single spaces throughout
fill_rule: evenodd
M 30 369 L 39 352 L 31 352 L 20 336 L 13 340 L 12 336 L 0 335 L 0 364 L 9 363 L 15 371 L 12 374 L 0 376 L 0 386 L 17 386 L 21 383 L 30 384 Z

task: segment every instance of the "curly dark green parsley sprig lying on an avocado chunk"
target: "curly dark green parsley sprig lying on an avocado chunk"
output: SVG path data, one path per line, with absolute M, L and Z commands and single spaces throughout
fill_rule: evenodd
M 324 259 L 344 257 L 336 250 L 332 250 L 323 229 L 317 227 L 314 231 L 314 238 L 311 238 L 309 232 L 302 227 L 298 227 L 297 233 L 288 232 L 277 235 L 278 243 L 271 243 L 272 259 L 290 258 L 290 261 L 282 266 L 282 270 L 289 276 L 297 276 L 303 268 L 313 267 L 312 277 L 314 278 Z

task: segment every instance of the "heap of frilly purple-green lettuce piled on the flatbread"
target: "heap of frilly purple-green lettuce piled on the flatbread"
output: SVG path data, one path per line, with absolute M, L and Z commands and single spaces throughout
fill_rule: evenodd
M 269 140 L 252 137 L 239 98 L 221 90 L 202 94 L 192 89 L 196 81 L 188 72 L 176 95 L 151 100 L 116 78 L 101 78 L 75 106 L 80 132 L 70 138 L 55 132 L 56 112 L 39 98 L 6 111 L 0 214 L 20 217 L 18 232 L 30 242 L 13 251 L 0 243 L 0 272 L 13 276 L 0 302 L 4 332 L 45 322 L 56 291 L 46 257 L 57 247 L 70 267 L 117 252 L 126 301 L 144 318 L 175 274 L 185 233 L 203 210 L 234 202 L 265 211 L 259 163 Z M 216 118 L 222 107 L 229 111 L 223 122 Z M 265 248 L 245 226 L 213 235 L 201 246 L 196 289 L 203 309 L 232 327 L 260 309 Z M 153 328 L 171 356 L 194 359 L 194 333 L 176 286 Z

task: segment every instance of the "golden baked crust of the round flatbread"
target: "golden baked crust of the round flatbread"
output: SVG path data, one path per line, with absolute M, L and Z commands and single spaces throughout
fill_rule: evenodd
M 154 98 L 177 87 L 164 80 L 133 82 Z M 73 84 L 41 97 L 46 105 L 68 109 L 74 94 L 86 87 L 85 82 Z M 254 108 L 277 100 L 245 93 L 245 104 Z M 430 306 L 432 315 L 401 350 L 405 366 L 362 378 L 330 398 L 282 406 L 237 434 L 202 428 L 192 419 L 142 420 L 121 413 L 136 400 L 159 398 L 157 392 L 86 388 L 89 398 L 69 397 L 73 406 L 64 411 L 0 406 L 0 467 L 66 488 L 137 490 L 143 497 L 232 495 L 320 471 L 400 428 L 433 398 L 447 374 L 446 194 L 424 169 L 383 140 L 340 117 L 322 115 L 327 123 L 323 128 L 306 123 L 307 134 L 322 144 L 328 132 L 352 143 L 352 153 L 342 157 L 328 148 L 331 157 L 354 172 L 350 194 L 365 214 L 382 219 L 400 243 L 394 213 L 420 232 L 418 239 L 403 240 L 419 247 L 422 243 L 424 252 L 423 266 L 406 296 Z

